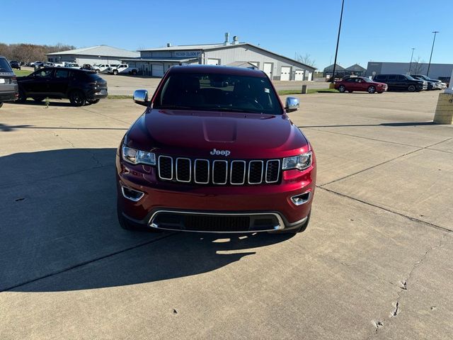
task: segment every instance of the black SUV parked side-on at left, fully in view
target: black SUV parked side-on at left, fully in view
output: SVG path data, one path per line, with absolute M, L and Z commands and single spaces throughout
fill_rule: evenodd
M 26 77 L 18 77 L 19 101 L 28 97 L 35 101 L 44 98 L 69 98 L 72 105 L 98 103 L 108 96 L 107 81 L 96 72 L 66 67 L 39 69 Z

